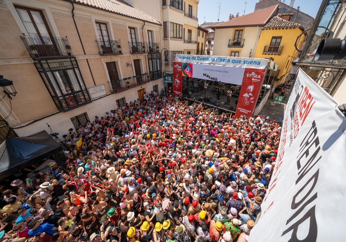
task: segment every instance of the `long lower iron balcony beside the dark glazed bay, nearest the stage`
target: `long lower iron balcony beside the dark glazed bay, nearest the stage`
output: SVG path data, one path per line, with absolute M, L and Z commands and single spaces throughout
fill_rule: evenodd
M 109 81 L 110 90 L 112 93 L 118 93 L 129 88 L 142 85 L 143 82 L 148 81 L 148 74 L 144 73 L 137 76 L 126 77 L 122 80 L 111 80 Z

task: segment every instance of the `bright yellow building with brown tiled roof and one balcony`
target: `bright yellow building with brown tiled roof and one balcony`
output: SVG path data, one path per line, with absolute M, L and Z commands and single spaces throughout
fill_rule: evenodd
M 284 82 L 284 75 L 289 73 L 292 59 L 297 58 L 294 47 L 295 40 L 305 30 L 304 26 L 289 21 L 293 13 L 281 13 L 274 16 L 261 30 L 260 39 L 255 51 L 255 58 L 273 58 L 279 67 L 275 75 Z M 299 48 L 303 38 L 299 38 Z

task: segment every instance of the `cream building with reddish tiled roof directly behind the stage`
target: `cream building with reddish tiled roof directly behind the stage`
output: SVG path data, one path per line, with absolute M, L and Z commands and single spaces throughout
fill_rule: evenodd
M 211 26 L 215 30 L 213 55 L 254 57 L 261 28 L 276 15 L 279 4 Z

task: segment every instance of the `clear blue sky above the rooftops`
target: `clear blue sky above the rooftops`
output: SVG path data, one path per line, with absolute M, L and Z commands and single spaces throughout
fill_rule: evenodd
M 219 16 L 219 22 L 228 21 L 230 14 L 236 16 L 239 12 L 239 16 L 251 13 L 255 10 L 255 4 L 260 0 L 200 0 L 198 4 L 198 24 L 203 22 L 217 22 Z M 247 2 L 245 4 L 245 2 Z M 291 0 L 281 0 L 290 5 Z M 293 7 L 300 7 L 300 11 L 307 13 L 313 18 L 316 17 L 318 9 L 320 8 L 322 0 L 295 0 Z M 204 20 L 205 17 L 205 20 Z

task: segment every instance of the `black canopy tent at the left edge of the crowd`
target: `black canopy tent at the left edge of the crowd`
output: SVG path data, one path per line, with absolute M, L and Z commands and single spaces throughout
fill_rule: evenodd
M 28 137 L 8 137 L 0 144 L 0 179 L 62 150 L 46 131 Z

